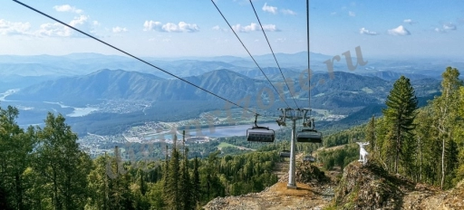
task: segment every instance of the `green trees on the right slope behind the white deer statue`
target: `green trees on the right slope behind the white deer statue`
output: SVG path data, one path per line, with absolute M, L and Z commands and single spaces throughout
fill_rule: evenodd
M 420 109 L 410 80 L 395 81 L 383 117 L 324 138 L 326 147 L 349 144 L 322 152 L 324 167 L 343 168 L 358 157 L 350 143 L 366 141 L 369 158 L 389 172 L 444 189 L 456 186 L 464 177 L 464 86 L 455 68 L 442 77 L 441 94 Z

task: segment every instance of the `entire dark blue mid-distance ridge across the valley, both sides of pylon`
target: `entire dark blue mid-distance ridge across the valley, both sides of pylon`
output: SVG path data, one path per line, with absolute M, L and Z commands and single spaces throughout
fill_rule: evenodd
M 274 70 L 275 71 L 275 70 Z M 274 88 L 266 80 L 256 80 L 243 74 L 221 69 L 198 76 L 183 78 L 227 100 L 242 100 L 251 97 L 257 100 L 280 100 Z M 288 78 L 292 94 L 283 81 L 272 81 L 277 91 L 283 91 L 287 101 L 307 103 L 306 79 Z M 417 83 L 416 83 L 417 82 Z M 437 92 L 439 81 L 423 79 L 413 81 L 418 97 Z M 350 113 L 370 104 L 382 104 L 391 90 L 392 81 L 367 77 L 349 72 L 314 73 L 311 83 L 311 100 L 315 109 L 337 110 Z M 272 95 L 269 95 L 272 94 Z M 148 73 L 123 70 L 101 70 L 84 76 L 43 81 L 24 88 L 6 98 L 7 100 L 63 101 L 72 104 L 86 100 L 218 100 L 180 80 L 166 80 Z M 261 101 L 263 102 L 263 101 Z

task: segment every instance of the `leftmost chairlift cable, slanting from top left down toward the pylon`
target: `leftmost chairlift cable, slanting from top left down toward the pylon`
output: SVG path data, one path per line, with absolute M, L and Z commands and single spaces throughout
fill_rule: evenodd
M 208 92 L 209 94 L 211 94 L 211 95 L 213 95 L 213 96 L 216 96 L 216 97 L 218 97 L 218 98 L 221 99 L 221 100 L 225 100 L 225 101 L 227 101 L 227 102 L 229 102 L 229 103 L 231 103 L 231 104 L 233 104 L 233 105 L 236 105 L 236 106 L 239 107 L 239 108 L 242 108 L 242 109 L 244 109 L 244 110 L 247 110 L 247 111 L 249 111 L 249 112 L 252 112 L 252 113 L 257 114 L 257 113 L 256 113 L 255 111 L 253 111 L 253 110 L 249 110 L 249 109 L 247 109 L 247 108 L 245 108 L 245 107 L 242 107 L 242 106 L 238 105 L 238 104 L 235 103 L 235 102 L 232 102 L 232 101 L 227 100 L 227 99 L 225 99 L 225 98 L 223 98 L 223 97 L 221 97 L 221 96 L 218 96 L 218 94 L 216 94 L 216 93 L 213 93 L 213 92 L 208 91 L 208 90 L 206 90 L 206 89 L 204 89 L 204 88 L 201 88 L 201 87 L 199 87 L 198 85 L 196 85 L 196 84 L 194 84 L 194 83 L 192 83 L 192 82 L 190 82 L 190 81 L 187 81 L 187 80 L 185 80 L 185 79 L 182 79 L 182 78 L 180 78 L 179 76 L 177 76 L 177 75 L 175 75 L 175 74 L 173 74 L 173 73 L 171 73 L 171 72 L 167 72 L 167 71 L 161 69 L 160 67 L 151 64 L 150 62 L 146 62 L 146 61 L 140 59 L 139 57 L 137 57 L 137 56 L 135 56 L 135 55 L 132 55 L 132 54 L 129 53 L 129 52 L 125 52 L 125 51 L 121 50 L 120 48 L 117 48 L 117 47 L 111 45 L 110 43 L 105 43 L 105 42 L 103 42 L 101 39 L 98 39 L 98 38 L 92 36 L 92 35 L 89 34 L 89 33 L 82 32 L 81 30 L 79 30 L 79 29 L 77 29 L 77 28 L 75 28 L 75 27 L 73 27 L 73 26 L 71 26 L 71 25 L 69 25 L 69 24 L 63 23 L 63 21 L 60 21 L 60 20 L 54 18 L 53 16 L 51 16 L 51 15 L 49 15 L 49 14 L 45 14 L 45 13 L 43 13 L 43 12 L 41 12 L 41 11 L 35 9 L 35 8 L 32 7 L 32 6 L 25 5 L 24 3 L 20 2 L 20 1 L 17 1 L 17 0 L 13 0 L 13 1 L 14 1 L 15 3 L 19 4 L 19 5 L 24 5 L 25 7 L 27 7 L 27 8 L 29 8 L 29 9 L 33 10 L 34 12 L 36 12 L 36 13 L 38 13 L 38 14 L 42 14 L 43 16 L 46 16 L 46 17 L 48 17 L 48 18 L 50 18 L 50 19 L 52 19 L 52 20 L 54 20 L 54 21 L 56 21 L 56 22 L 58 22 L 58 23 L 60 23 L 60 24 L 66 25 L 67 27 L 72 28 L 74 31 L 77 31 L 77 32 L 79 32 L 79 33 L 82 33 L 82 34 L 84 34 L 84 35 L 86 35 L 86 36 L 92 38 L 93 40 L 96 40 L 96 41 L 98 41 L 98 42 L 100 42 L 100 43 L 103 43 L 103 44 L 105 44 L 105 45 L 107 45 L 107 46 L 110 46 L 111 48 L 113 48 L 113 49 L 115 49 L 115 50 L 117 50 L 117 51 L 119 51 L 119 52 L 122 52 L 122 53 L 124 53 L 124 54 L 126 54 L 126 55 L 129 55 L 130 57 L 132 57 L 132 58 L 134 58 L 134 59 L 136 59 L 136 60 L 138 60 L 138 61 L 140 61 L 140 62 L 143 62 L 143 63 L 145 63 L 145 64 L 147 64 L 147 65 L 150 65 L 151 67 L 153 67 L 153 68 L 155 68 L 155 69 L 158 69 L 158 70 L 160 70 L 161 72 L 165 72 L 165 73 L 169 74 L 170 76 L 173 76 L 173 77 L 179 79 L 180 81 L 185 81 L 185 82 L 189 83 L 190 85 L 192 85 L 192 86 L 198 88 L 198 89 L 201 90 L 201 91 L 206 91 L 206 92 Z

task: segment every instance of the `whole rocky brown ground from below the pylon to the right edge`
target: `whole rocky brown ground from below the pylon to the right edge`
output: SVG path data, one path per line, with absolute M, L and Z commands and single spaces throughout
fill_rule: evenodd
M 288 167 L 282 167 L 286 169 Z M 353 162 L 327 176 L 318 167 L 298 164 L 297 189 L 287 189 L 280 173 L 274 186 L 260 193 L 213 199 L 205 209 L 464 209 L 464 181 L 449 191 L 388 174 L 380 165 Z

